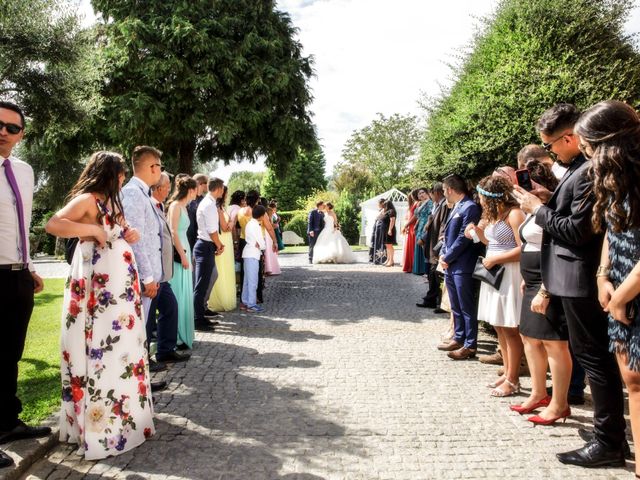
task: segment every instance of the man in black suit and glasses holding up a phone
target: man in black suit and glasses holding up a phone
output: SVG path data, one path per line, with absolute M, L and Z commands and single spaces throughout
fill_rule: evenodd
M 580 153 L 579 139 L 573 133 L 579 116 L 574 105 L 559 104 L 538 121 L 545 149 L 568 167 L 547 205 L 518 187 L 514 194 L 522 209 L 534 214 L 536 223 L 544 229 L 543 286 L 538 293 L 541 309 L 548 305 L 549 296 L 561 299 L 569 342 L 587 372 L 593 398 L 593 434 L 581 433 L 583 438 L 591 438 L 582 448 L 558 454 L 558 459 L 583 467 L 623 466 L 622 382 L 609 352 L 607 315 L 598 303 L 596 271 L 603 235 L 594 234 L 591 225 L 594 196 L 588 177 L 590 162 Z

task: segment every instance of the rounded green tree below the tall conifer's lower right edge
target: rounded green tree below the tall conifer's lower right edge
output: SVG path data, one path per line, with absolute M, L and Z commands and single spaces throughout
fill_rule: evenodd
M 320 147 L 312 151 L 300 150 L 284 175 L 279 177 L 275 170 L 267 170 L 262 195 L 268 199 L 275 198 L 278 208 L 294 209 L 301 198 L 327 187 L 324 166 L 324 153 Z

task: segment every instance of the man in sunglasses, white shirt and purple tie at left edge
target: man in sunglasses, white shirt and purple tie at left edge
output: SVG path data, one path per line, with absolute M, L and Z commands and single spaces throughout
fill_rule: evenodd
M 18 419 L 18 362 L 33 311 L 33 295 L 44 284 L 29 258 L 29 227 L 33 207 L 33 170 L 11 156 L 24 134 L 24 114 L 0 102 L 0 304 L 4 310 L 0 349 L 0 443 L 49 435 L 49 427 L 30 427 Z M 0 450 L 0 467 L 13 464 Z

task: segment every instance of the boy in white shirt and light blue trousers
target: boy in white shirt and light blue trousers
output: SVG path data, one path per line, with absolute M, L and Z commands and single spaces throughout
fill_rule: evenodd
M 242 249 L 242 261 L 244 263 L 244 278 L 242 282 L 241 310 L 249 312 L 262 312 L 263 308 L 257 304 L 258 280 L 260 272 L 260 255 L 267 248 L 262 233 L 262 217 L 266 209 L 262 205 L 253 207 L 251 220 L 247 222 L 244 230 L 244 238 L 247 244 Z

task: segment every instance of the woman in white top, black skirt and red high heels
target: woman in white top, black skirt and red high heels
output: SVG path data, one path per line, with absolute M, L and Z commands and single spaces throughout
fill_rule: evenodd
M 553 191 L 558 181 L 549 167 L 538 160 L 530 161 L 526 168 L 531 178 L 547 190 Z M 520 255 L 520 273 L 524 281 L 524 297 L 520 312 L 520 335 L 524 343 L 527 363 L 531 370 L 531 394 L 524 403 L 511 405 L 511 410 L 520 414 L 542 409 L 532 417 L 551 421 L 563 416 L 569 410 L 567 392 L 571 380 L 571 354 L 567 323 L 562 312 L 560 299 L 548 295 L 542 297 L 540 287 L 540 249 L 542 246 L 542 227 L 535 218 L 528 215 L 520 227 L 522 254 Z M 542 307 L 545 304 L 546 310 Z M 544 311 L 544 313 L 541 313 Z M 553 395 L 547 394 L 547 366 L 551 368 Z M 553 423 L 553 422 L 551 422 Z

